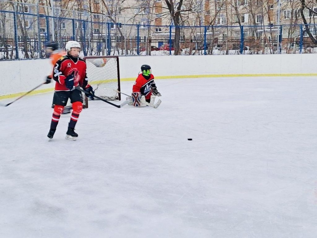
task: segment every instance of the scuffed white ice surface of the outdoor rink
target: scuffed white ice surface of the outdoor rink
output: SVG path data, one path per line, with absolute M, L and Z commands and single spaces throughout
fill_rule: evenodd
M 46 137 L 53 93 L 1 107 L 0 237 L 316 237 L 316 78 L 156 84 L 158 109 L 89 102 L 75 142 Z

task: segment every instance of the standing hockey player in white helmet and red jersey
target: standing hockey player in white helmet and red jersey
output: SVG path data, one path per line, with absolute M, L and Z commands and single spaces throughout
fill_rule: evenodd
M 47 135 L 50 139 L 54 136 L 58 121 L 68 98 L 73 104 L 73 113 L 70 117 L 70 122 L 68 123 L 66 139 L 76 140 L 78 136 L 78 134 L 74 132 L 74 128 L 82 110 L 83 99 L 81 91 L 74 87 L 81 86 L 87 92 L 86 95 L 93 99 L 94 91 L 88 84 L 86 63 L 78 56 L 80 47 L 80 43 L 68 41 L 65 46 L 67 55 L 59 58 L 53 70 L 53 79 L 56 81 L 53 97 L 53 104 L 55 107 L 49 134 Z

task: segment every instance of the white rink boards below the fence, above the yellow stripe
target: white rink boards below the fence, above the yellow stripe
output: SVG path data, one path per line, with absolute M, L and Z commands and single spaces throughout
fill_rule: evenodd
M 154 76 L 317 73 L 316 57 L 317 54 L 120 56 L 120 77 L 136 78 L 142 64 L 149 64 Z M 1 61 L 0 96 L 29 91 L 43 82 L 51 67 L 48 59 Z M 53 86 L 52 83 L 41 89 Z

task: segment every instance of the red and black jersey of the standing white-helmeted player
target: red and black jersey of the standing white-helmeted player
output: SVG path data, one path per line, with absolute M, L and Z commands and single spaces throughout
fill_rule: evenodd
M 56 81 L 55 91 L 69 91 L 65 86 L 65 79 L 74 73 L 74 86 L 85 87 L 88 84 L 86 76 L 86 62 L 79 57 L 69 55 L 58 59 L 53 69 L 53 79 Z

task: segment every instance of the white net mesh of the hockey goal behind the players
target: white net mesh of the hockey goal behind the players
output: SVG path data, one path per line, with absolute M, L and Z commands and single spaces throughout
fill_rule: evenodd
M 116 90 L 120 91 L 118 75 L 119 60 L 117 56 L 87 56 L 87 77 L 95 95 L 107 100 L 119 99 Z

